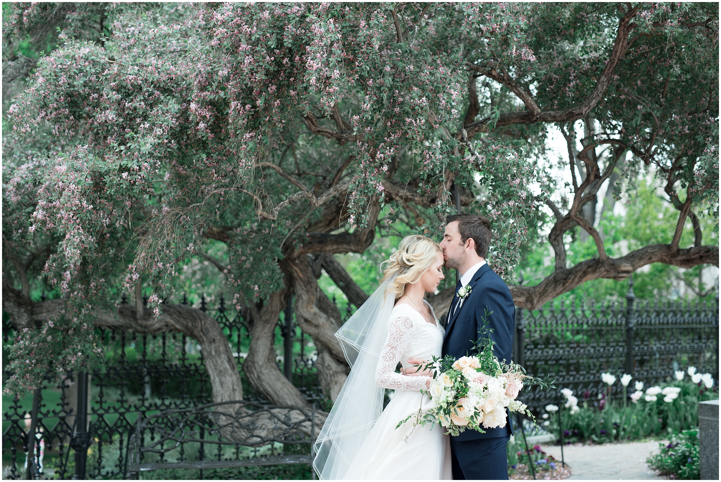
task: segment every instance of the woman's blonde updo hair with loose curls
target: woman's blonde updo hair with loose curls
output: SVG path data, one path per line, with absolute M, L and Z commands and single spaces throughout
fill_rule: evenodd
M 428 237 L 422 235 L 404 237 L 398 245 L 398 250 L 383 263 L 388 263 L 383 271 L 383 281 L 397 275 L 386 286 L 385 294 L 394 293 L 396 300 L 403 296 L 406 285 L 418 281 L 433 265 L 435 255 L 438 253 L 443 254 L 441 245 Z

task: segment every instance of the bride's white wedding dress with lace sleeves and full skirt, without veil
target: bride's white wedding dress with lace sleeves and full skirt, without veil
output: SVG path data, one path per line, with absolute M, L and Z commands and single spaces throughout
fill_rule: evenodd
M 427 303 L 426 303 L 427 304 Z M 430 308 L 435 319 L 435 313 Z M 426 321 L 407 304 L 393 308 L 388 335 L 376 369 L 376 384 L 395 393 L 350 464 L 345 479 L 451 480 L 451 442 L 440 424 L 412 427 L 412 419 L 398 422 L 428 403 L 425 376 L 395 373 L 399 362 L 411 368 L 409 358 L 431 360 L 441 356 L 445 330 L 435 319 Z M 410 433 L 408 440 L 404 437 Z

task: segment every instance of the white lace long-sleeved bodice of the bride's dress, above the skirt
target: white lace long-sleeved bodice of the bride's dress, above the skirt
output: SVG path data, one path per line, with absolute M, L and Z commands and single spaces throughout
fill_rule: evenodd
M 433 314 L 435 318 L 435 314 Z M 407 304 L 398 304 L 391 315 L 388 336 L 376 368 L 376 385 L 394 390 L 425 389 L 427 376 L 404 376 L 396 373 L 398 362 L 410 367 L 409 358 L 430 360 L 441 355 L 443 327 L 436 320 L 425 322 L 420 313 Z

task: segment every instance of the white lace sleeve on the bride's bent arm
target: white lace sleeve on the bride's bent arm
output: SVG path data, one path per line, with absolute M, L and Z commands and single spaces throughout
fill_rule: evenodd
M 413 335 L 413 322 L 408 317 L 397 317 L 391 321 L 386 344 L 383 345 L 381 358 L 376 368 L 376 385 L 394 390 L 425 389 L 427 376 L 404 376 L 396 373 L 403 350 Z

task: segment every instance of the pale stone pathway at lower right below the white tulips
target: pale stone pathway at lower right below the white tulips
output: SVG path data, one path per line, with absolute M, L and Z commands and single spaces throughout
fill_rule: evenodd
M 646 465 L 651 453 L 658 453 L 658 441 L 604 445 L 566 445 L 565 462 L 572 476 L 567 480 L 665 480 Z M 541 444 L 543 450 L 561 460 L 561 447 Z

